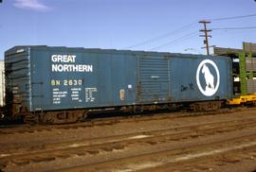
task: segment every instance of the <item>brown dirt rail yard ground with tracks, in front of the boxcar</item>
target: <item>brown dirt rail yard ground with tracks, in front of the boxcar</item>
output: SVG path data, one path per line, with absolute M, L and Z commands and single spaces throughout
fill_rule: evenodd
M 256 170 L 256 109 L 159 116 L 89 127 L 1 129 L 0 168 L 2 171 Z

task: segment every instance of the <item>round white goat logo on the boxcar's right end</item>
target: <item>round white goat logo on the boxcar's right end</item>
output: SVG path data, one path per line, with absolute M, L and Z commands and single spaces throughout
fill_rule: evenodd
M 217 92 L 220 85 L 220 73 L 215 62 L 212 60 L 200 62 L 196 71 L 196 83 L 203 95 L 211 96 Z

